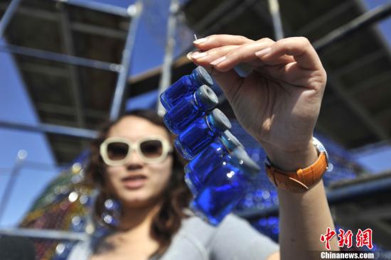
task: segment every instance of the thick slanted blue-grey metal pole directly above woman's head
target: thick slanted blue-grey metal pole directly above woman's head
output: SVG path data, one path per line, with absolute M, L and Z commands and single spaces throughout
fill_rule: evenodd
M 132 16 L 132 19 L 129 23 L 129 31 L 127 35 L 127 41 L 125 43 L 125 48 L 122 53 L 121 60 L 121 70 L 119 71 L 117 85 L 114 91 L 114 97 L 112 101 L 112 107 L 110 109 L 110 120 L 114 121 L 119 117 L 119 113 L 122 109 L 122 104 L 124 103 L 124 92 L 127 87 L 127 79 L 129 75 L 129 67 L 132 58 L 132 50 L 134 46 L 134 41 L 136 40 L 137 28 L 139 27 L 139 20 L 141 18 L 142 12 L 142 3 L 141 0 L 137 1 L 133 6 L 129 6 L 128 10 L 132 11 L 134 8 L 134 13 L 129 13 Z

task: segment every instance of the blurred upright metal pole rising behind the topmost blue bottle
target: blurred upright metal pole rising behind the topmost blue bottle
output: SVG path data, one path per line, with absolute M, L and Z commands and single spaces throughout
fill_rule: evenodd
M 175 48 L 175 32 L 176 32 L 176 14 L 179 10 L 179 1 L 171 0 L 170 14 L 167 21 L 167 43 L 166 51 L 164 53 L 164 63 L 161 69 L 161 77 L 159 82 L 159 95 L 164 92 L 171 85 L 171 67 L 173 65 L 173 51 Z M 159 115 L 163 116 L 166 113 L 166 109 L 157 102 L 156 106 Z

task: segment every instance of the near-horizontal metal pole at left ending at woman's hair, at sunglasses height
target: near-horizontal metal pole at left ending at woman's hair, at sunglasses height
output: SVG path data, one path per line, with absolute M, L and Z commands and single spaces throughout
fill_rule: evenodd
M 60 134 L 80 139 L 95 139 L 97 137 L 97 131 L 69 126 L 58 126 L 55 124 L 37 124 L 36 126 L 31 126 L 28 124 L 0 121 L 0 127 L 38 133 Z

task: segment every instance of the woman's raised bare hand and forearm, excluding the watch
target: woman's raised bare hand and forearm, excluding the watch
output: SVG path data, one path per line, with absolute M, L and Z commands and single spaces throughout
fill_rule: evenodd
M 199 51 L 188 57 L 210 68 L 237 120 L 259 141 L 273 166 L 295 171 L 317 160 L 312 137 L 326 72 L 309 40 L 215 35 L 194 44 Z M 252 67 L 247 77 L 233 70 L 240 63 Z M 319 238 L 327 227 L 333 229 L 323 183 L 306 193 L 278 192 L 281 259 L 318 259 L 311 251 L 324 250 Z M 331 247 L 338 250 L 336 240 Z

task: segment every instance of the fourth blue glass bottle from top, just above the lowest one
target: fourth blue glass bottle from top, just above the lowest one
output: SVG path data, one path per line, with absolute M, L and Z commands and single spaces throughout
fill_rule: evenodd
M 194 196 L 198 195 L 208 174 L 237 147 L 243 147 L 242 143 L 226 130 L 185 166 L 185 182 Z

